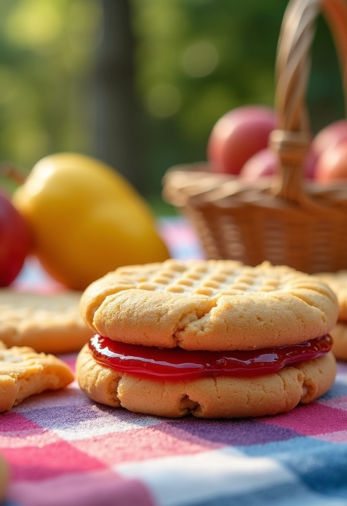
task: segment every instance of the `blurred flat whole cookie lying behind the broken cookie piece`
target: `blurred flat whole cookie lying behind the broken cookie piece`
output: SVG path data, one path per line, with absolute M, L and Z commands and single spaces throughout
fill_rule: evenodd
M 37 352 L 79 351 L 92 332 L 79 314 L 78 292 L 20 293 L 0 289 L 0 340 Z

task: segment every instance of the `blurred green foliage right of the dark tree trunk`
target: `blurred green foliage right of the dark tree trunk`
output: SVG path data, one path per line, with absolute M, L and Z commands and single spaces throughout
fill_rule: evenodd
M 155 191 L 168 166 L 205 159 L 212 126 L 226 111 L 250 103 L 273 104 L 277 38 L 286 4 L 133 0 L 145 160 Z M 203 67 L 206 58 L 214 65 Z M 322 19 L 308 104 L 314 132 L 343 116 L 337 59 Z

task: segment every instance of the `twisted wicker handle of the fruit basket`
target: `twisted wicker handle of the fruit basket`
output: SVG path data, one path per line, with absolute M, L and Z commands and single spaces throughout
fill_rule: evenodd
M 273 191 L 292 202 L 308 200 L 302 183 L 302 166 L 311 142 L 305 95 L 310 49 L 320 10 L 332 29 L 347 96 L 347 5 L 344 0 L 290 0 L 277 46 L 275 106 L 278 129 L 271 133 L 269 145 L 280 160 L 279 178 Z

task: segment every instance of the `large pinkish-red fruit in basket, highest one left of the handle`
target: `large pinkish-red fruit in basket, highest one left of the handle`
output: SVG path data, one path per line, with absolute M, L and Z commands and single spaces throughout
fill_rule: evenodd
M 224 114 L 208 141 L 207 157 L 212 170 L 239 174 L 251 156 L 267 147 L 275 123 L 275 112 L 264 106 L 238 107 Z

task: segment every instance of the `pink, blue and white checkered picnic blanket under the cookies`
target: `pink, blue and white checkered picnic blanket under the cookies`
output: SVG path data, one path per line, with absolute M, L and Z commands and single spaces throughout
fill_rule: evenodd
M 184 222 L 162 226 L 176 257 L 201 256 Z M 74 383 L 0 415 L 0 451 L 6 506 L 347 505 L 347 364 L 318 401 L 257 419 L 135 414 Z

